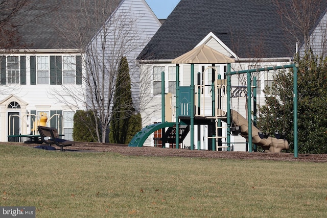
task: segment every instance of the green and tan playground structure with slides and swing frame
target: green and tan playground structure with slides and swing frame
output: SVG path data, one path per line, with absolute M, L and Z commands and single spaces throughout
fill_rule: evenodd
M 176 148 L 179 148 L 179 143 L 183 141 L 186 135 L 190 131 L 191 150 L 194 150 L 194 125 L 210 125 L 213 128 L 212 136 L 208 136 L 212 139 L 212 150 L 218 150 L 218 148 L 227 148 L 230 151 L 230 135 L 235 130 L 243 136 L 248 142 L 248 151 L 252 152 L 252 143 L 255 146 L 261 146 L 266 152 L 281 152 L 289 148 L 288 141 L 283 138 L 265 137 L 261 131 L 252 124 L 252 98 L 251 88 L 255 90 L 255 86 L 251 87 L 251 73 L 261 72 L 267 70 L 277 70 L 293 68 L 294 72 L 294 87 L 293 87 L 293 100 L 294 100 L 294 157 L 297 157 L 297 64 L 274 66 L 258 69 L 248 69 L 242 71 L 230 71 L 230 63 L 234 62 L 233 59 L 224 56 L 223 54 L 210 49 L 206 45 L 201 45 L 196 49 L 174 59 L 172 63 L 176 64 L 176 122 L 166 122 L 165 120 L 165 81 L 164 72 L 162 72 L 162 123 L 153 124 L 143 128 L 138 132 L 131 142 L 130 147 L 142 147 L 145 140 L 155 131 L 162 129 L 162 142 L 174 142 Z M 221 75 L 217 74 L 218 70 L 213 70 L 212 74 L 212 110 L 207 111 L 208 107 L 205 105 L 204 95 L 201 90 L 206 85 L 201 84 L 201 79 L 198 79 L 198 84 L 194 84 L 194 64 L 221 64 L 227 63 L 227 72 L 224 74 L 224 78 L 221 79 Z M 179 86 L 179 64 L 191 64 L 191 85 Z M 231 110 L 231 76 L 232 75 L 247 75 L 247 117 L 244 118 L 238 111 Z M 199 78 L 199 77 L 198 77 Z M 253 84 L 256 84 L 253 78 Z M 203 79 L 204 81 L 204 79 Z M 256 91 L 253 91 L 253 117 L 254 124 L 256 123 Z M 221 122 L 227 124 L 227 143 L 226 146 L 222 146 L 221 130 L 225 127 Z M 168 128 L 165 131 L 165 128 Z M 198 128 L 199 129 L 199 128 Z M 199 141 L 198 141 L 199 144 Z M 199 146 L 198 146 L 199 149 Z

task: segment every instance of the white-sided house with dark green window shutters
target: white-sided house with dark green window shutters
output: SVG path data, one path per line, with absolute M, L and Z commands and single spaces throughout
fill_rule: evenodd
M 95 8 L 104 3 L 106 10 L 96 14 Z M 96 22 L 100 18 L 105 20 Z M 7 141 L 8 135 L 35 134 L 41 115 L 46 116 L 46 126 L 60 129 L 65 139 L 72 140 L 73 116 L 76 110 L 87 109 L 90 98 L 84 77 L 88 69 L 85 60 L 90 57 L 85 51 L 91 46 L 97 49 L 101 34 L 107 29 L 112 31 L 106 35 L 107 40 L 114 41 L 117 35 L 112 26 L 118 23 L 132 25 L 125 28 L 133 32 L 124 28 L 120 31 L 125 31 L 124 37 L 133 35 L 133 42 L 137 42 L 133 50 L 125 50 L 123 55 L 134 70 L 132 92 L 138 107 L 139 87 L 135 81 L 139 69 L 135 59 L 161 26 L 144 0 L 46 0 L 20 14 L 19 21 L 19 46 L 2 50 L 0 55 L 0 141 Z M 82 34 L 70 31 L 74 27 Z M 123 42 L 123 36 L 116 40 Z M 104 53 L 112 51 L 107 46 Z M 68 95 L 68 89 L 74 95 Z

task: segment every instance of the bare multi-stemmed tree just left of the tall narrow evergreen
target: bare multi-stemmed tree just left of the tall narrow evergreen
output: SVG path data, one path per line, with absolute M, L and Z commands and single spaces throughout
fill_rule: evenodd
M 139 14 L 130 8 L 117 10 L 117 0 L 85 0 L 65 2 L 70 8 L 68 20 L 58 24 L 58 31 L 65 37 L 67 46 L 82 54 L 82 86 L 62 86 L 59 96 L 68 106 L 92 110 L 96 117 L 99 142 L 105 142 L 107 129 L 112 119 L 115 79 L 123 56 L 127 57 L 130 76 L 138 89 L 138 69 L 135 57 L 144 46 L 136 22 Z M 137 17 L 138 16 L 138 17 Z M 138 81 L 138 82 L 137 82 Z M 138 98 L 138 93 L 134 93 Z M 137 102 L 133 102 L 137 105 Z M 99 119 L 97 119 L 99 118 Z

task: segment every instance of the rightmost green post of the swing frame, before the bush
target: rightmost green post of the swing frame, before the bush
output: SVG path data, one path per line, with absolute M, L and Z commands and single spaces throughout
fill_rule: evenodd
M 293 66 L 293 110 L 294 110 L 294 157 L 297 158 L 297 68 L 299 64 Z

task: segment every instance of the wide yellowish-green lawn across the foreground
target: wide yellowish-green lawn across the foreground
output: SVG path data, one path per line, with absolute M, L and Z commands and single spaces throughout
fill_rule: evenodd
M 36 217 L 327 216 L 325 163 L 0 153 L 0 206 L 36 206 Z

